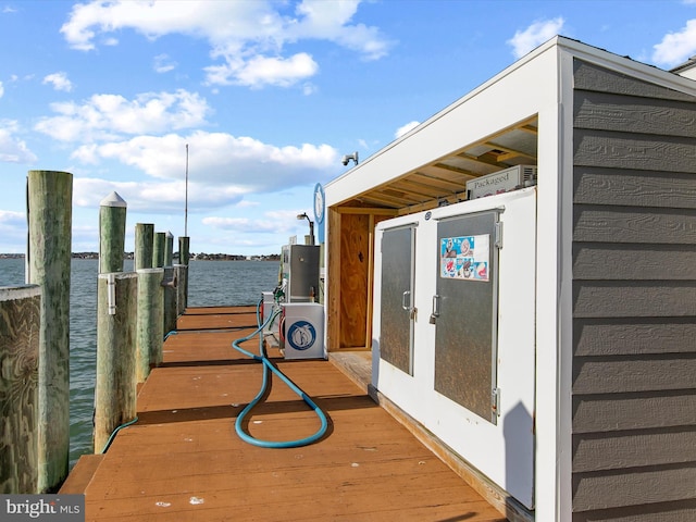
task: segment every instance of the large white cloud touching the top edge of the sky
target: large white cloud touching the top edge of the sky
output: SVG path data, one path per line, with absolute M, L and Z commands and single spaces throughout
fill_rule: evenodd
M 174 5 L 175 3 L 175 5 Z M 286 57 L 286 45 L 321 39 L 368 60 L 384 57 L 393 42 L 376 27 L 351 24 L 360 0 L 297 2 L 294 15 L 279 11 L 284 2 L 132 2 L 95 0 L 73 7 L 61 33 L 71 47 L 91 50 L 99 38 L 134 29 L 149 39 L 184 34 L 208 40 L 211 58 L 208 84 L 289 87 L 316 74 L 319 65 L 306 52 Z M 103 44 L 103 41 L 101 42 Z M 304 89 L 307 92 L 307 89 Z

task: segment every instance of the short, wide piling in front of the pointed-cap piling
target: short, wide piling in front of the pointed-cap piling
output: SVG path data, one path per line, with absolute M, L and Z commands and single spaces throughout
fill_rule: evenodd
M 95 452 L 136 415 L 137 274 L 99 274 Z

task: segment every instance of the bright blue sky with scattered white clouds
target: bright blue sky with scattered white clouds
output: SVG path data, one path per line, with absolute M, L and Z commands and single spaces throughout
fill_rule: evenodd
M 194 253 L 279 253 L 344 154 L 556 35 L 670 70 L 696 55 L 696 0 L 0 0 L 0 252 L 25 252 L 47 170 L 73 174 L 74 252 L 116 191 L 126 251 L 153 223 Z

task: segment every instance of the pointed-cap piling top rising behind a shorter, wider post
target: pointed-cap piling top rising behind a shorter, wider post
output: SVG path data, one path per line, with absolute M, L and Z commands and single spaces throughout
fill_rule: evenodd
M 126 202 L 111 192 L 99 203 L 99 273 L 123 272 Z

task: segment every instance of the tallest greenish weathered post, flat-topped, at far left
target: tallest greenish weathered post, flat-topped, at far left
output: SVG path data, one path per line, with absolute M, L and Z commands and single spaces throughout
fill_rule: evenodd
M 29 171 L 27 283 L 41 288 L 39 493 L 58 487 L 70 462 L 70 270 L 73 175 Z

